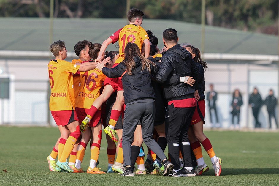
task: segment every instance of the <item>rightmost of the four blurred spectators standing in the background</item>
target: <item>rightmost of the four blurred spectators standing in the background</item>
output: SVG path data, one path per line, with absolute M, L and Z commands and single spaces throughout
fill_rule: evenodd
M 268 119 L 269 119 L 269 128 L 271 129 L 271 118 L 274 117 L 276 128 L 278 128 L 278 122 L 275 116 L 275 108 L 277 105 L 277 99 L 273 95 L 273 90 L 269 90 L 269 96 L 264 100 L 264 104 L 267 105 Z

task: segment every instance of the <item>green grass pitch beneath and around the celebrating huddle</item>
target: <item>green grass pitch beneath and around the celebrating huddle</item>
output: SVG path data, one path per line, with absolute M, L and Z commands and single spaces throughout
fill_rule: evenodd
M 215 153 L 223 159 L 221 176 L 214 176 L 214 171 L 210 169 L 203 176 L 191 178 L 122 177 L 116 173 L 50 172 L 46 157 L 58 138 L 57 128 L 1 126 L 0 185 L 278 185 L 278 133 L 206 131 L 205 134 Z M 82 164 L 84 170 L 89 165 L 89 154 L 86 150 Z M 205 151 L 203 154 L 211 168 L 209 157 Z M 105 139 L 99 162 L 99 167 L 106 171 Z M 2 171 L 4 169 L 7 172 Z

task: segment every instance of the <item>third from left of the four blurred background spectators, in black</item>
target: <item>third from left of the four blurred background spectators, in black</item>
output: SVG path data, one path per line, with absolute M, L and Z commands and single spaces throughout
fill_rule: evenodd
M 259 94 L 259 91 L 256 87 L 254 88 L 253 93 L 250 95 L 248 103 L 252 107 L 253 116 L 255 118 L 255 128 L 261 128 L 261 123 L 258 120 L 258 116 L 263 100 L 261 99 L 261 95 Z

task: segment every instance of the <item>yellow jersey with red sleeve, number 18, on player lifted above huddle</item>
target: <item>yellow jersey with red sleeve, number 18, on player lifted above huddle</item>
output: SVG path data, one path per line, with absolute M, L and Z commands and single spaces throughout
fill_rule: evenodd
M 118 59 L 124 59 L 124 48 L 128 42 L 136 43 L 139 46 L 141 51 L 143 40 L 148 39 L 149 37 L 146 31 L 138 25 L 129 24 L 124 26 L 122 29 L 119 29 L 114 34 L 110 36 L 112 43 L 118 41 L 119 43 L 119 57 Z

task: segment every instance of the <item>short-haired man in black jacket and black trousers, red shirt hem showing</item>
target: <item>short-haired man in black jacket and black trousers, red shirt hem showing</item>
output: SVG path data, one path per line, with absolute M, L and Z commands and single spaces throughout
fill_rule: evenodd
M 198 78 L 198 67 L 192 60 L 191 54 L 180 47 L 175 29 L 166 29 L 163 32 L 163 42 L 167 51 L 161 58 L 160 69 L 153 76 L 157 81 L 164 82 L 164 97 L 168 101 L 166 113 L 166 135 L 170 158 L 174 170 L 170 176 L 195 176 L 191 163 L 191 147 L 188 139 L 188 129 L 196 108 L 194 98 L 195 86 L 186 83 L 177 85 L 167 84 L 172 76 L 191 76 Z M 179 146 L 184 159 L 184 168 L 180 170 Z

